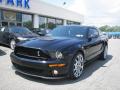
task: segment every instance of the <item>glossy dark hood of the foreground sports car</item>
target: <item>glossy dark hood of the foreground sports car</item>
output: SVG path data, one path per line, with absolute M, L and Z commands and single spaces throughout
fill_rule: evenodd
M 29 41 L 20 42 L 17 45 L 29 48 L 40 48 L 43 50 L 61 50 L 74 44 L 82 44 L 84 40 L 59 37 L 40 37 Z

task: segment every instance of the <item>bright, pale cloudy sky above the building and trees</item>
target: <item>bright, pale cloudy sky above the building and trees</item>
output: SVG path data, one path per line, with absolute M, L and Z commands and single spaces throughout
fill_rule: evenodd
M 84 15 L 85 25 L 120 26 L 120 0 L 42 0 Z M 66 2 L 66 5 L 63 3 Z

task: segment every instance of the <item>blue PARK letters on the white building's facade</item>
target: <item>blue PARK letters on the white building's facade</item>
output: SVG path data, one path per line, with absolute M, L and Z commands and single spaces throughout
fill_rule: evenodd
M 6 5 L 12 5 L 16 7 L 30 8 L 29 0 L 0 0 L 0 3 L 5 2 Z

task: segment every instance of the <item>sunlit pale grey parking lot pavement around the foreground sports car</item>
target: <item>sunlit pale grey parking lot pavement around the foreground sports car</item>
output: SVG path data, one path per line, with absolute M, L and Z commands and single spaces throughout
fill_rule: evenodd
M 109 40 L 105 61 L 86 65 L 78 80 L 45 80 L 14 71 L 8 47 L 0 46 L 0 90 L 120 90 L 120 40 Z

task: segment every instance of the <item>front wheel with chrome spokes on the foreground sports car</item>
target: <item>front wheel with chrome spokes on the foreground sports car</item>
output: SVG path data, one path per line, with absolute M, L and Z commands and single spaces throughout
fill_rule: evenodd
M 84 68 L 84 57 L 83 54 L 78 53 L 75 55 L 70 66 L 70 78 L 78 79 L 80 78 Z

